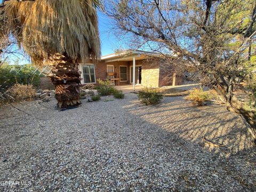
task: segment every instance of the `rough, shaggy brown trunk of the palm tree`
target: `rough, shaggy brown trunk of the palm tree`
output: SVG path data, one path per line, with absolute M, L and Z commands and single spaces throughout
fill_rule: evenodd
M 80 105 L 81 72 L 78 70 L 76 61 L 60 54 L 53 55 L 50 60 L 52 61 L 52 74 L 50 76 L 55 85 L 57 106 L 67 108 Z

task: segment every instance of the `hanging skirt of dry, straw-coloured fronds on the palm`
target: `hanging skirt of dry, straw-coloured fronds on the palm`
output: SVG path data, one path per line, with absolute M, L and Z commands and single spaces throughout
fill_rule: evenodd
M 36 0 L 5 2 L 7 26 L 34 63 L 55 53 L 74 60 L 100 58 L 98 2 Z

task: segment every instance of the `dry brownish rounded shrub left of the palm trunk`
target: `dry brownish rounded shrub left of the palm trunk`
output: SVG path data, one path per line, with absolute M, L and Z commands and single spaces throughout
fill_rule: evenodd
M 36 90 L 32 85 L 14 84 L 8 92 L 16 100 L 28 99 L 36 96 Z

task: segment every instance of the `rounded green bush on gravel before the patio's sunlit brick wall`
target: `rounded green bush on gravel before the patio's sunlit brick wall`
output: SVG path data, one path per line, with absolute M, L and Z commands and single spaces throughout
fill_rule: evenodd
M 138 98 L 142 103 L 145 103 L 146 105 L 156 105 L 163 99 L 158 90 L 148 88 L 143 91 L 139 91 Z

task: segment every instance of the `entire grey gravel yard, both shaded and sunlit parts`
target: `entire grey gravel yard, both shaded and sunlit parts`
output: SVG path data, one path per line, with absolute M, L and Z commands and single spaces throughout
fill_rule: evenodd
M 136 94 L 0 107 L 0 191 L 255 191 L 256 150 L 241 117 L 182 97 L 144 106 Z M 33 117 L 34 116 L 34 117 Z

